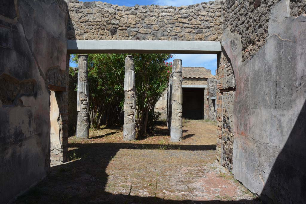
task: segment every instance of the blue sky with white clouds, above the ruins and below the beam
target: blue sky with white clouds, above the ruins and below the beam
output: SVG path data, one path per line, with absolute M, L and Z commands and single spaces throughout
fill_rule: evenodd
M 94 0 L 85 0 L 84 2 L 93 2 Z M 201 2 L 208 2 L 208 0 L 101 0 L 111 4 L 118 4 L 119 6 L 135 6 L 158 4 L 161 6 L 188 6 Z M 210 69 L 213 75 L 216 74 L 217 69 L 217 55 L 215 54 L 174 54 L 173 59 L 181 59 L 184 67 L 205 67 Z M 170 61 L 169 61 L 170 62 Z M 70 66 L 75 67 L 75 64 L 70 63 Z

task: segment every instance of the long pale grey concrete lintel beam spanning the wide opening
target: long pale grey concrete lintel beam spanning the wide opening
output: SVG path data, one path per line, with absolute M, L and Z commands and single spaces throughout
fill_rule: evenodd
M 218 54 L 221 44 L 218 41 L 67 40 L 67 52 Z

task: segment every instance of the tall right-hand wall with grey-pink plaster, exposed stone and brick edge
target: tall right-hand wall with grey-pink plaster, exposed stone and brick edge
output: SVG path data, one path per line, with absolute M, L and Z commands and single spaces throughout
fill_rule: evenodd
M 233 142 L 231 137 L 225 141 L 232 133 L 218 127 L 223 164 L 230 169 L 233 143 L 233 174 L 268 203 L 306 202 L 306 164 L 301 162 L 306 157 L 306 15 L 297 17 L 305 5 L 304 0 L 224 5 L 227 29 L 218 71 L 225 73 L 229 64 L 237 86 L 234 92 L 219 84 L 223 113 L 218 112 L 218 120 L 231 129 L 234 122 Z M 233 119 L 227 119 L 232 98 Z

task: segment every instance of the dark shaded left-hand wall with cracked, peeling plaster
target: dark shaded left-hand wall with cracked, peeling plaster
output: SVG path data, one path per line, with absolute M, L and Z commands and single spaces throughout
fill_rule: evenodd
M 66 85 L 68 15 L 60 0 L 0 4 L 0 203 L 6 203 L 50 168 L 48 84 Z M 64 95 L 58 101 L 58 139 L 68 119 Z

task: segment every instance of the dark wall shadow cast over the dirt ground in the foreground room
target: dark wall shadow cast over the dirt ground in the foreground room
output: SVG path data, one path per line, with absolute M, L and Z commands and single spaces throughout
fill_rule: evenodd
M 134 143 L 72 143 L 70 159 L 75 161 L 51 167 L 47 177 L 15 203 L 254 203 L 241 201 L 167 200 L 157 197 L 140 197 L 111 194 L 105 191 L 108 181 L 106 168 L 121 149 L 163 149 L 163 145 Z M 167 145 L 170 150 L 215 150 L 216 145 Z M 98 164 L 98 165 L 97 165 Z M 99 168 L 97 168 L 99 167 Z M 140 179 L 140 178 L 137 178 Z M 133 184 L 132 184 L 133 185 Z M 133 188 L 132 193 L 133 194 Z

